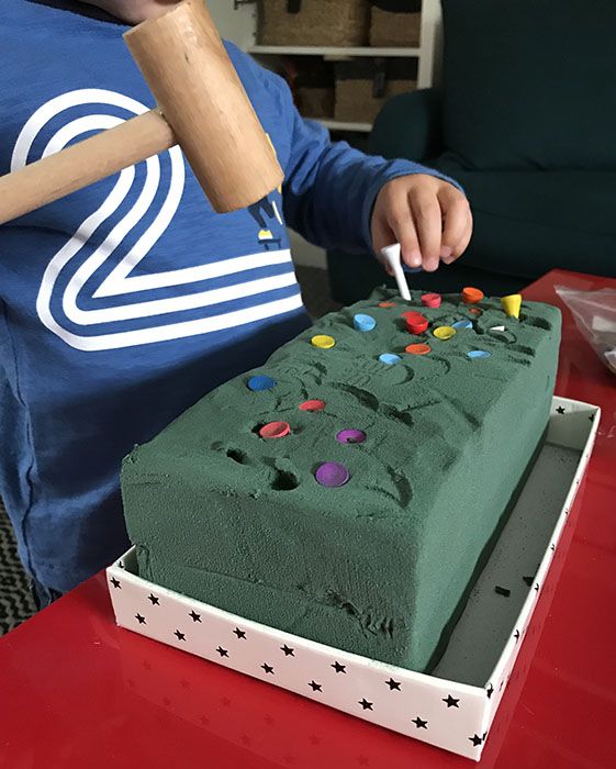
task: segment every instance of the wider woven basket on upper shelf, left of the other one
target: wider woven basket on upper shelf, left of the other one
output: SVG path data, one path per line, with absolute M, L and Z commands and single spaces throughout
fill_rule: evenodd
M 366 45 L 369 26 L 369 0 L 259 2 L 261 45 Z

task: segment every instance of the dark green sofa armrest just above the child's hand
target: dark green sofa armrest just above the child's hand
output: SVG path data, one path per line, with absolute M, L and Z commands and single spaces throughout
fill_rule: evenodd
M 374 121 L 368 152 L 390 159 L 401 157 L 418 163 L 440 155 L 440 93 L 425 88 L 390 99 Z

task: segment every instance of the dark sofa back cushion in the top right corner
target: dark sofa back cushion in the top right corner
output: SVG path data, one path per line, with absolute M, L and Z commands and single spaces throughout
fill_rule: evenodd
M 470 169 L 616 169 L 615 0 L 443 0 L 444 140 Z

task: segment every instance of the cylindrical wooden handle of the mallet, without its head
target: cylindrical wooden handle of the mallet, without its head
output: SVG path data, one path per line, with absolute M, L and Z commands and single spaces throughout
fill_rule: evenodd
M 152 110 L 0 177 L 0 224 L 117 174 L 177 144 L 160 112 Z

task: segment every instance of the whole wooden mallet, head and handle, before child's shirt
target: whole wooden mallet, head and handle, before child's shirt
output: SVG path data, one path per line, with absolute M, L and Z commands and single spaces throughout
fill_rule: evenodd
M 257 202 L 283 172 L 204 0 L 183 0 L 124 40 L 157 109 L 0 177 L 0 224 L 179 144 L 219 213 Z

